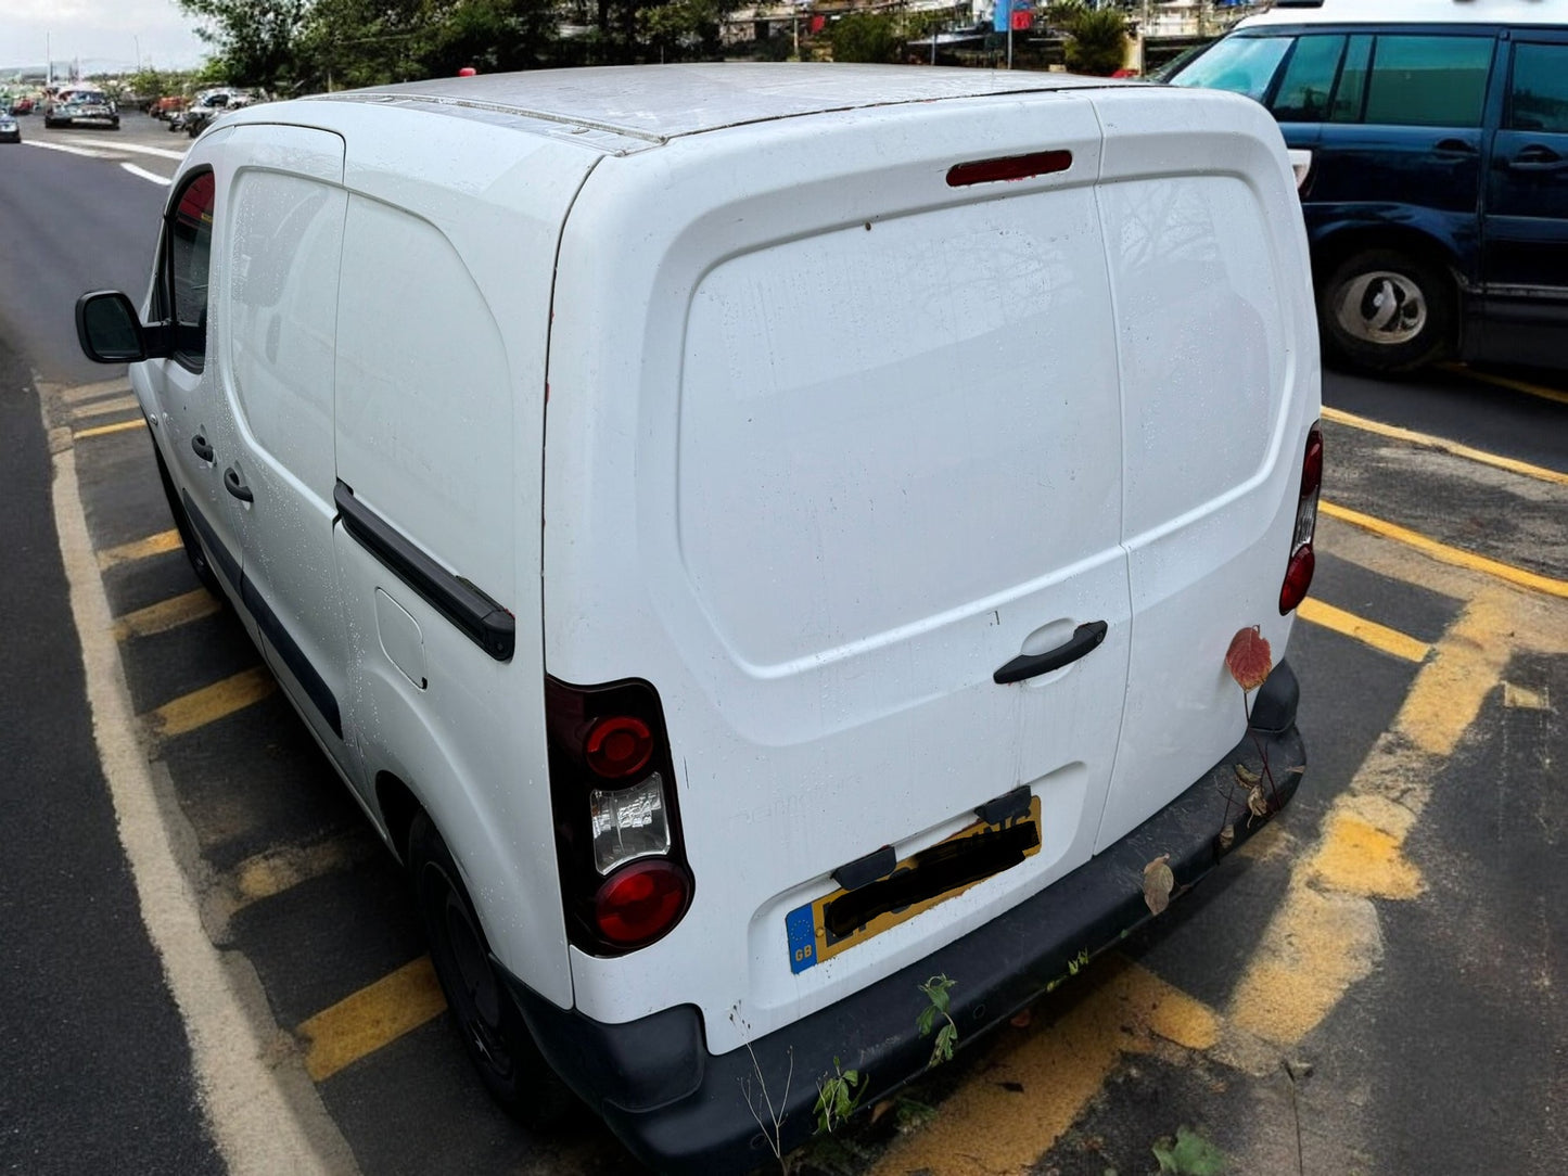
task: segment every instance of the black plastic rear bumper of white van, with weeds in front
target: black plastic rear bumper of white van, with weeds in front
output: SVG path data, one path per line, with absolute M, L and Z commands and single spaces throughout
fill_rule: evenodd
M 1261 748 L 1279 806 L 1295 793 L 1306 767 L 1295 729 L 1297 693 L 1295 676 L 1281 663 L 1258 691 L 1248 735 L 1160 812 L 1011 911 L 753 1041 L 750 1054 L 709 1054 L 701 1013 L 691 1005 L 607 1025 L 561 1010 L 517 982 L 513 994 L 544 1057 L 638 1159 L 665 1173 L 746 1171 L 773 1159 L 746 1105 L 750 1090 L 767 1121 L 759 1074 L 775 1110 L 784 1112 L 789 1151 L 811 1135 L 815 1079 L 833 1073 L 836 1058 L 844 1069 L 867 1076 L 866 1105 L 925 1069 L 931 1041 L 916 1030 L 925 1005 L 917 985 L 936 974 L 960 982 L 950 1013 L 960 1044 L 971 1044 L 1054 988 L 1080 952 L 1098 955 L 1151 917 L 1143 867 L 1154 858 L 1170 855 L 1179 895 L 1262 828 L 1269 818 L 1248 818 L 1242 786 L 1229 804 L 1226 793 L 1236 764 L 1261 770 Z M 1221 839 L 1226 826 L 1231 839 Z M 779 1107 L 790 1073 L 789 1099 Z

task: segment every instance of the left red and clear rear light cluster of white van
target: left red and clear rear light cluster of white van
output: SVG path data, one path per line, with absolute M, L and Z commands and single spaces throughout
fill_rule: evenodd
M 659 693 L 546 676 L 544 715 L 568 935 L 593 955 L 646 947 L 681 922 L 693 889 Z

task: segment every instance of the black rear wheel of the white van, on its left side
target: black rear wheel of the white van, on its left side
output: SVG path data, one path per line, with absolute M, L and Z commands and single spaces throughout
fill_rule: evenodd
M 491 964 L 489 944 L 456 862 L 425 812 L 414 817 L 408 834 L 408 869 L 447 1013 L 469 1062 L 491 1098 L 519 1123 L 535 1129 L 558 1123 L 575 1099 L 533 1044 Z

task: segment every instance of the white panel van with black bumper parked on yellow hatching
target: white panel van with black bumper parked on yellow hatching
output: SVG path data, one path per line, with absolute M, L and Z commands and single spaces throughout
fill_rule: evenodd
M 85 295 L 176 522 L 409 869 L 494 1094 L 651 1165 L 875 1098 L 1295 789 L 1317 331 L 1245 99 L 671 66 L 241 111 Z M 1236 764 L 1269 765 L 1258 814 Z M 1256 800 L 1256 798 L 1254 798 Z M 1243 818 L 1245 817 L 1245 818 Z M 1156 903 L 1159 905 L 1159 903 Z

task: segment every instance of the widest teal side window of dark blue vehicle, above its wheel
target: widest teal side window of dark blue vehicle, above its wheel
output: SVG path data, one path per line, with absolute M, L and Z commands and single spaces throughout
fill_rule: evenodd
M 1479 127 L 1491 47 L 1490 36 L 1380 36 L 1364 121 Z

